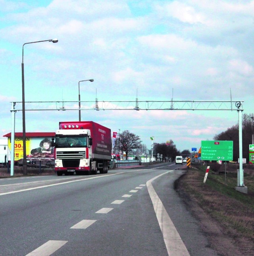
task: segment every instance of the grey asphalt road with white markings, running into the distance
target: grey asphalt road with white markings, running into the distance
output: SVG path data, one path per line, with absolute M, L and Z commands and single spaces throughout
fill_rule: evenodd
M 0 255 L 217 255 L 173 189 L 181 167 L 0 179 Z

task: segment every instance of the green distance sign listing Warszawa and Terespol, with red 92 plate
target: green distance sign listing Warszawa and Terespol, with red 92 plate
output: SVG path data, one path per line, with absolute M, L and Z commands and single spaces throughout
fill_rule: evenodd
M 201 141 L 201 160 L 233 160 L 233 141 Z

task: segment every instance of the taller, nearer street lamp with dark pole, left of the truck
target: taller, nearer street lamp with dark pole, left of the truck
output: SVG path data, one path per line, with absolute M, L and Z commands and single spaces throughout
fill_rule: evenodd
M 42 41 L 36 41 L 36 42 L 28 42 L 25 44 L 33 44 L 37 42 L 58 42 L 57 38 L 49 39 L 49 40 L 42 40 Z M 22 70 L 22 124 L 23 124 L 23 174 L 27 174 L 27 152 L 26 152 L 26 138 L 25 138 L 25 80 L 24 80 L 24 45 L 22 47 L 22 64 L 21 64 L 21 70 Z M 14 153 L 14 152 L 13 152 Z

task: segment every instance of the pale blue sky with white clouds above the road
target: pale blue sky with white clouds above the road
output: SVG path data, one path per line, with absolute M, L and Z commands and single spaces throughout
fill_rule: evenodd
M 22 101 L 244 101 L 253 113 L 254 1 L 0 0 L 0 137 L 11 132 L 11 103 Z M 78 104 L 78 102 L 77 102 Z M 39 105 L 40 106 L 40 105 Z M 27 111 L 26 132 L 54 132 L 78 110 Z M 151 148 L 177 149 L 238 123 L 237 111 L 81 111 L 111 131 L 129 130 Z M 22 132 L 22 113 L 15 114 Z

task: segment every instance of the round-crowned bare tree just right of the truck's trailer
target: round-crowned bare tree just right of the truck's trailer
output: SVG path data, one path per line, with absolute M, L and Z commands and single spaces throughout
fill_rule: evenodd
M 128 130 L 123 131 L 119 137 L 121 139 L 121 148 L 126 154 L 126 159 L 128 159 L 129 152 L 133 149 L 140 148 L 142 141 L 140 141 L 140 137 L 138 135 L 130 133 Z

